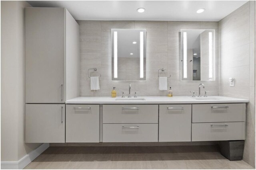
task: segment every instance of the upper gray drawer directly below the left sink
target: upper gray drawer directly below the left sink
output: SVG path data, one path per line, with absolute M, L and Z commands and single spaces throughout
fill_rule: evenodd
M 103 123 L 158 123 L 158 105 L 103 105 Z

